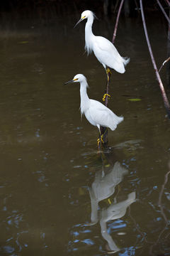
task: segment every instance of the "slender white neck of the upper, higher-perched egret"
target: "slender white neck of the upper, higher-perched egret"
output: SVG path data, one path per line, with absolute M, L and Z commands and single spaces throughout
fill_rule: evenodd
M 87 50 L 87 53 L 91 53 L 92 50 L 92 40 L 91 38 L 94 37 L 94 33 L 92 31 L 92 24 L 94 22 L 94 16 L 89 16 L 86 21 L 85 26 L 85 49 Z

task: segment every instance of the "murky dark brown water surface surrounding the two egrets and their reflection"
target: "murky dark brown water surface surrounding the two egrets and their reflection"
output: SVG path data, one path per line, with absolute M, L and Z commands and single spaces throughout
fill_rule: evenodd
M 91 98 L 104 92 L 78 18 L 1 31 L 0 255 L 170 255 L 169 119 L 140 18 L 120 20 L 115 46 L 131 61 L 113 72 L 109 107 L 125 120 L 101 155 L 96 127 L 81 122 L 79 85 L 63 85 L 83 73 Z M 161 65 L 166 28 L 148 22 Z M 101 18 L 94 33 L 111 39 L 113 22 Z

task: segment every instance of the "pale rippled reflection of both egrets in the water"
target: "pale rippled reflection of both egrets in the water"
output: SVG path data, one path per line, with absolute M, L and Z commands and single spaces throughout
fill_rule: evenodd
M 120 248 L 115 245 L 113 238 L 108 234 L 107 222 L 109 220 L 122 218 L 125 215 L 128 206 L 135 202 L 136 194 L 135 192 L 129 193 L 128 198 L 120 202 L 117 202 L 115 196 L 113 203 L 111 203 L 108 208 L 102 208 L 100 211 L 98 210 L 98 203 L 113 195 L 115 186 L 123 180 L 125 174 L 128 174 L 128 170 L 118 161 L 112 165 L 107 174 L 105 174 L 103 166 L 101 171 L 96 172 L 94 182 L 92 183 L 91 188 L 89 188 L 91 198 L 91 223 L 89 225 L 95 225 L 98 223 L 98 220 L 100 221 L 101 235 L 108 242 L 109 250 L 112 252 L 118 252 Z

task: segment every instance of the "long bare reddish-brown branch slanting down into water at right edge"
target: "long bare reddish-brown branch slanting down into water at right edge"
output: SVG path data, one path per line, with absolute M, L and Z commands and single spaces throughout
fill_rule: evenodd
M 149 53 L 150 53 L 150 56 L 151 56 L 151 59 L 152 59 L 152 64 L 154 66 L 154 71 L 156 73 L 157 80 L 159 82 L 159 87 L 160 87 L 160 90 L 162 92 L 162 97 L 163 97 L 163 100 L 164 100 L 164 106 L 166 108 L 166 112 L 167 112 L 167 114 L 169 116 L 169 119 L 170 119 L 170 105 L 169 105 L 168 98 L 166 96 L 166 92 L 164 90 L 164 85 L 162 84 L 162 80 L 161 80 L 160 75 L 158 73 L 157 65 L 155 63 L 154 55 L 152 53 L 152 48 L 151 48 L 151 45 L 150 45 L 150 42 L 149 42 L 149 37 L 148 37 L 148 34 L 147 34 L 147 26 L 146 26 L 146 23 L 145 23 L 145 15 L 144 15 L 144 11 L 143 11 L 142 0 L 140 0 L 140 9 L 141 9 L 141 14 L 142 14 L 142 22 L 143 22 L 143 27 L 144 27 L 144 31 L 145 31 L 145 36 L 146 36 L 146 40 L 147 40 L 147 46 L 149 48 Z

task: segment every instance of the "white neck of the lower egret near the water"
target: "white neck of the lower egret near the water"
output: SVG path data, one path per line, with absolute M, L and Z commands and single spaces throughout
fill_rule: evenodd
M 82 81 L 80 83 L 80 110 L 81 114 L 86 112 L 86 110 L 89 108 L 90 99 L 86 93 L 86 87 L 88 87 L 88 84 L 86 80 Z

